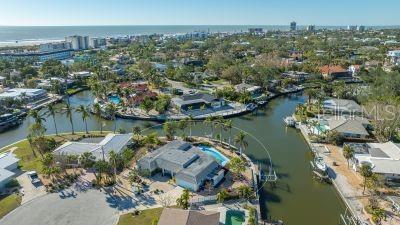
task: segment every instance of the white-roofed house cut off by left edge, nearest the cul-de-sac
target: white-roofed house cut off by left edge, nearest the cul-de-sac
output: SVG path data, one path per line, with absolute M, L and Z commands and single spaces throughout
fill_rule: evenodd
M 0 154 L 0 193 L 15 177 L 19 159 L 12 153 Z

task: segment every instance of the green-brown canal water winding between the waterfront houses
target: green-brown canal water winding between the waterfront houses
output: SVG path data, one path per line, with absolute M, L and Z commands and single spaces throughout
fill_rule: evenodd
M 89 91 L 78 93 L 70 98 L 72 106 L 90 105 L 93 96 Z M 339 215 L 343 211 L 343 203 L 333 186 L 312 179 L 309 168 L 310 150 L 301 133 L 292 128 L 286 128 L 282 119 L 291 115 L 298 103 L 304 102 L 302 95 L 280 97 L 269 102 L 265 109 L 257 113 L 234 118 L 233 125 L 252 134 L 263 143 L 272 158 L 273 168 L 278 175 L 275 185 L 269 183 L 262 188 L 261 211 L 263 217 L 282 219 L 289 225 L 337 225 Z M 85 126 L 80 114 L 74 114 L 74 127 L 84 131 Z M 71 132 L 69 120 L 65 115 L 57 115 L 56 122 L 59 132 Z M 31 118 L 10 131 L 0 134 L 0 147 L 23 139 L 28 134 L 28 128 L 33 123 Z M 150 126 L 156 123 L 118 119 L 118 129 L 131 131 L 134 126 Z M 47 133 L 55 133 L 53 120 L 46 118 Z M 88 120 L 90 130 L 99 130 L 99 124 L 94 118 Z M 112 130 L 113 121 L 103 121 L 104 130 Z M 161 132 L 161 127 L 156 130 Z M 211 128 L 202 123 L 193 128 L 194 135 L 210 134 Z M 214 130 L 214 134 L 219 129 Z M 233 135 L 236 133 L 234 130 Z M 227 139 L 229 132 L 223 132 Z M 249 135 L 246 138 L 248 147 L 245 153 L 268 173 L 269 158 L 261 145 Z

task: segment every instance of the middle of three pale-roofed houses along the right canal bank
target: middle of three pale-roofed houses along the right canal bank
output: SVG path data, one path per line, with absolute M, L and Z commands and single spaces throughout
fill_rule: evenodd
M 346 140 L 368 140 L 369 127 L 369 121 L 363 117 L 324 116 L 319 119 L 315 133 L 336 131 Z

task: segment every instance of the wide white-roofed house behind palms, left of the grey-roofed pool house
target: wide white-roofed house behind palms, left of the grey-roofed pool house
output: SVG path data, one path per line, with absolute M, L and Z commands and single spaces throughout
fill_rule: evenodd
M 96 160 L 109 159 L 111 151 L 119 154 L 132 144 L 132 134 L 107 134 L 100 138 L 85 138 L 79 142 L 68 141 L 54 150 L 53 154 L 58 161 L 66 160 L 68 155 L 80 156 L 90 152 Z

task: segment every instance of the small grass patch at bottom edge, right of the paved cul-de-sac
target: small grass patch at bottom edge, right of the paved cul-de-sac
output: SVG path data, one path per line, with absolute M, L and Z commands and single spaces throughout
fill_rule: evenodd
M 159 219 L 163 208 L 147 209 L 140 211 L 138 216 L 131 213 L 119 217 L 118 225 L 152 225 L 155 219 Z

